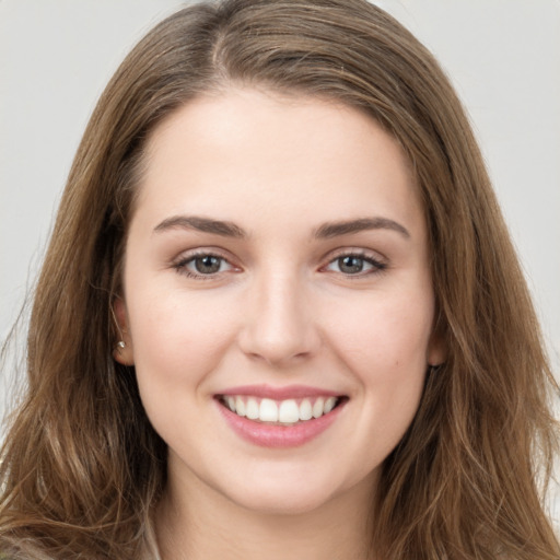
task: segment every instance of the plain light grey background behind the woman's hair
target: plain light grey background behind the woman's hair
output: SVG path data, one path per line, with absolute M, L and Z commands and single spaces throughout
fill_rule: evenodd
M 129 48 L 185 3 L 0 0 L 0 340 L 33 285 L 96 98 Z M 431 48 L 467 106 L 558 375 L 560 0 L 375 3 Z

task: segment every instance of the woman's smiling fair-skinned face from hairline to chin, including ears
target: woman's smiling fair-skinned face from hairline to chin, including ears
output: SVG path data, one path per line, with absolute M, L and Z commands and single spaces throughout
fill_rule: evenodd
M 407 162 L 355 109 L 233 90 L 160 125 L 116 359 L 170 483 L 277 512 L 374 489 L 442 359 L 428 261 Z

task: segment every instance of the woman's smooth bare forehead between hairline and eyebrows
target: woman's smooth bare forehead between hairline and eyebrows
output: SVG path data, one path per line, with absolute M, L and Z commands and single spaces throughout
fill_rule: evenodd
M 310 224 L 381 212 L 412 229 L 422 213 L 402 150 L 374 119 L 249 89 L 198 97 L 152 132 L 138 208 L 229 220 L 248 208 L 273 220 L 299 209 Z

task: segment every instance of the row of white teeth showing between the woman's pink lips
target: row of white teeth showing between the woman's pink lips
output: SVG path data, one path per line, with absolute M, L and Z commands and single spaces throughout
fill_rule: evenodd
M 289 398 L 249 397 L 245 395 L 218 395 L 219 402 L 238 417 L 270 425 L 295 425 L 328 415 L 348 400 L 346 396 Z

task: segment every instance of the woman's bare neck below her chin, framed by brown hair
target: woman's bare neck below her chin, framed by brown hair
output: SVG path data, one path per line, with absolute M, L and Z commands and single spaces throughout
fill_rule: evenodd
M 303 513 L 267 513 L 202 485 L 170 485 L 156 512 L 162 560 L 370 560 L 371 482 Z

